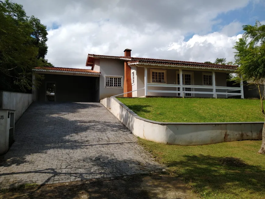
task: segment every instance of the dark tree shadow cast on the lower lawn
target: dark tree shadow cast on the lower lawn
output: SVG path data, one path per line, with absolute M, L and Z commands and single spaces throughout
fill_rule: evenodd
M 242 192 L 265 195 L 265 172 L 260 166 L 248 165 L 234 157 L 185 155 L 184 158 L 167 165 L 196 192 L 228 193 L 235 197 L 241 196 Z

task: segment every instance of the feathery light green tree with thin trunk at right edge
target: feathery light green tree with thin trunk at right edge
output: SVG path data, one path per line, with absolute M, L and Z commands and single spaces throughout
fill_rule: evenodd
M 243 26 L 245 33 L 243 37 L 236 42 L 233 47 L 235 52 L 235 60 L 239 67 L 239 72 L 243 79 L 254 83 L 260 93 L 260 108 L 265 118 L 263 107 L 264 91 L 260 88 L 260 84 L 264 84 L 265 80 L 265 25 L 261 25 L 256 21 L 254 26 Z M 262 144 L 259 153 L 265 154 L 265 123 L 262 130 Z

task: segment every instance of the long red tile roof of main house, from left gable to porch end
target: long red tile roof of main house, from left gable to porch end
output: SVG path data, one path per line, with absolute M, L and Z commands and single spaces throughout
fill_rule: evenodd
M 222 68 L 222 69 L 237 69 L 238 66 L 233 65 L 221 65 L 221 64 L 208 64 L 202 62 L 189 62 L 189 61 L 178 61 L 170 59 L 153 59 L 153 58 L 140 58 L 140 57 L 125 57 L 125 56 L 109 56 L 109 55 L 95 55 L 88 54 L 87 60 L 92 61 L 95 58 L 106 58 L 106 59 L 129 59 L 129 63 L 144 62 L 144 63 L 157 63 L 157 64 L 168 64 L 168 65 L 178 65 L 178 66 L 199 66 L 199 67 L 208 67 L 208 68 Z M 88 61 L 87 65 L 88 66 Z M 92 66 L 93 69 L 93 66 Z

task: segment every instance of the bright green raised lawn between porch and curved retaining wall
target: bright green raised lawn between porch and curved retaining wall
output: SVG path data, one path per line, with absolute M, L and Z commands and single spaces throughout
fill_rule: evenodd
M 118 98 L 140 117 L 158 122 L 264 121 L 260 100 L 212 98 Z

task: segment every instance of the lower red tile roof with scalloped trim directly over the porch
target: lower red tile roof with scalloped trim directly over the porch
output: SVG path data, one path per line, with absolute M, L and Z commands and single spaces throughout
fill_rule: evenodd
M 215 64 L 215 66 L 212 66 L 211 64 L 206 63 L 200 63 L 200 64 L 189 64 L 189 63 L 196 63 L 196 62 L 188 62 L 188 63 L 177 63 L 177 62 L 156 62 L 156 61 L 145 61 L 145 60 L 135 60 L 128 62 L 128 64 L 133 63 L 150 63 L 150 64 L 164 64 L 164 65 L 177 65 L 177 66 L 197 66 L 197 67 L 208 67 L 208 68 L 222 68 L 222 69 L 234 69 L 237 70 L 238 66 L 231 66 L 231 65 L 219 65 Z

